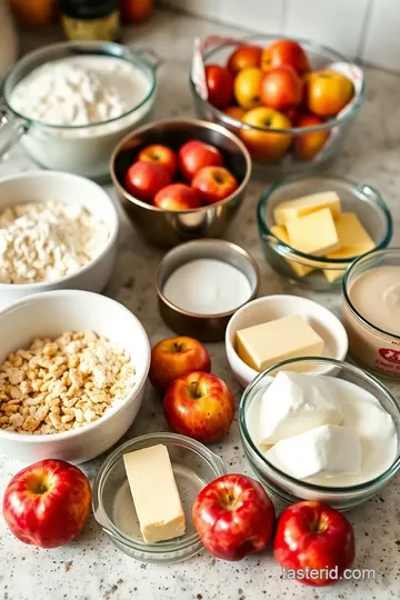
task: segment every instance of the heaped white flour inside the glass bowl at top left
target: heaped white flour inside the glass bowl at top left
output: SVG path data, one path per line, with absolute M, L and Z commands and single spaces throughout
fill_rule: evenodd
M 53 126 L 87 126 L 121 117 L 150 88 L 128 61 L 73 57 L 33 69 L 13 90 L 11 107 L 29 119 Z

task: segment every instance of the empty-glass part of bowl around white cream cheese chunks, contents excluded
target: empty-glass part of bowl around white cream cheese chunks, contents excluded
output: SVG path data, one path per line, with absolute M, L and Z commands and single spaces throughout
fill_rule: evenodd
M 318 369 L 323 372 L 327 370 L 327 367 L 334 370 L 333 373 L 331 372 L 334 377 L 344 381 L 350 381 L 374 396 L 382 408 L 391 414 L 394 421 L 398 436 L 396 459 L 390 468 L 383 473 L 364 483 L 343 488 L 329 488 L 290 477 L 272 463 L 268 462 L 257 448 L 248 430 L 247 414 L 249 408 L 251 407 L 257 392 L 266 384 L 270 383 L 271 377 L 277 374 L 280 370 L 300 369 L 307 371 L 308 368 L 312 374 L 318 374 Z M 317 500 L 326 502 L 338 510 L 349 510 L 366 502 L 378 493 L 400 468 L 400 406 L 397 399 L 376 377 L 367 373 L 359 367 L 354 367 L 341 360 L 307 357 L 284 360 L 270 369 L 267 369 L 264 372 L 260 373 L 243 392 L 239 408 L 239 428 L 244 454 L 251 469 L 264 488 L 286 504 L 298 502 L 299 500 Z

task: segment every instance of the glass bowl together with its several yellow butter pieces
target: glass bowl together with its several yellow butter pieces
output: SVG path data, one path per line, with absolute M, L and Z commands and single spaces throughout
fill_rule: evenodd
M 293 283 L 316 291 L 339 289 L 349 264 L 392 238 L 381 194 L 337 177 L 274 184 L 261 197 L 257 217 L 267 260 Z

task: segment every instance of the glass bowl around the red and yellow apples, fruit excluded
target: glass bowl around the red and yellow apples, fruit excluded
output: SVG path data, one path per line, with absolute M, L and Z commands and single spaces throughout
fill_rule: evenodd
M 242 43 L 254 43 L 262 48 L 269 46 L 272 41 L 277 39 L 277 36 L 250 36 L 248 38 L 244 38 L 242 40 Z M 297 41 L 301 43 L 302 48 L 304 49 L 312 70 L 324 69 L 332 62 L 348 62 L 348 60 L 342 54 L 339 54 L 338 52 L 330 50 L 329 48 L 324 48 L 323 46 L 319 46 L 308 40 L 298 39 Z M 203 57 L 204 63 L 217 63 L 226 66 L 229 56 L 236 47 L 236 44 L 228 42 L 221 43 L 212 48 L 211 50 L 208 50 Z M 250 146 L 248 146 L 250 154 L 253 153 L 253 174 L 259 179 L 264 179 L 268 181 L 276 181 L 289 174 L 314 171 L 317 169 L 320 169 L 321 167 L 327 166 L 329 162 L 336 159 L 342 150 L 351 123 L 358 114 L 366 94 L 364 84 L 362 83 L 360 93 L 353 106 L 351 107 L 351 110 L 347 114 L 329 119 L 322 124 L 308 128 L 292 127 L 288 129 L 273 129 L 248 126 L 242 121 L 233 119 L 232 117 L 226 114 L 223 111 L 217 109 L 216 107 L 210 104 L 210 102 L 203 100 L 198 93 L 192 76 L 190 76 L 190 89 L 198 117 L 208 121 L 213 121 L 216 123 L 227 127 L 228 129 L 231 129 L 234 133 L 242 138 L 244 143 L 247 131 L 251 131 L 253 132 L 253 134 L 260 133 L 261 136 L 266 132 L 270 132 L 277 136 L 276 143 L 278 144 L 280 141 L 280 137 L 283 138 L 283 136 L 291 136 L 293 142 L 296 142 L 296 140 L 304 133 L 311 133 L 317 131 L 329 131 L 333 133 L 331 136 L 331 139 L 329 140 L 330 143 L 326 143 L 319 154 L 312 160 L 301 160 L 293 154 L 291 149 L 289 149 L 281 159 L 276 162 L 271 162 L 268 158 L 261 159 L 259 156 L 260 152 L 254 153 L 256 146 L 253 150 Z M 261 142 L 257 144 L 258 149 L 260 148 L 260 144 L 262 146 Z M 283 143 L 283 146 L 286 144 Z

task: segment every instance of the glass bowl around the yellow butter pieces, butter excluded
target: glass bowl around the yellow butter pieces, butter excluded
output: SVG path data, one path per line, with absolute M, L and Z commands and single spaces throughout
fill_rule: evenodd
M 290 178 L 269 188 L 257 208 L 259 237 L 263 253 L 273 269 L 291 282 L 314 291 L 340 289 L 346 269 L 359 257 L 349 259 L 319 258 L 304 254 L 279 240 L 271 231 L 273 209 L 281 202 L 317 192 L 336 191 L 342 212 L 354 212 L 376 243 L 376 250 L 389 246 L 392 234 L 392 217 L 378 190 L 367 183 L 356 183 L 338 177 L 316 176 L 307 179 Z M 289 262 L 288 262 L 289 261 Z M 300 277 L 290 262 L 310 269 Z M 324 271 L 330 274 L 329 280 Z

